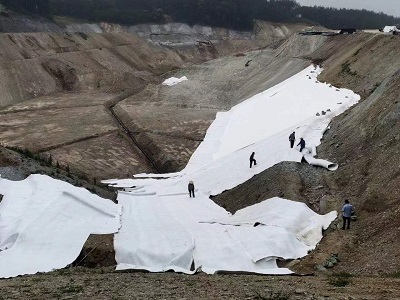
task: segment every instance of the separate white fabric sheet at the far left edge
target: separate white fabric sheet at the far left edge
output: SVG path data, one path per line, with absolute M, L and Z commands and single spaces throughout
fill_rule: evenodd
M 90 234 L 115 233 L 121 206 L 44 175 L 0 178 L 0 277 L 72 263 Z

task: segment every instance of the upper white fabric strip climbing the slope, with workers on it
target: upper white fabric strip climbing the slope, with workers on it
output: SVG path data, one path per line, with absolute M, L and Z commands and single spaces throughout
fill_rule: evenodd
M 175 189 L 182 191 L 188 180 L 194 180 L 197 186 L 202 186 L 203 193 L 217 195 L 279 162 L 300 162 L 303 154 L 298 151 L 299 147 L 289 148 L 289 134 L 295 131 L 296 144 L 303 137 L 306 147 L 313 148 L 320 144 L 332 118 L 360 99 L 351 90 L 319 82 L 317 76 L 321 71 L 310 66 L 230 111 L 217 113 L 204 141 L 187 166 L 181 172 L 162 175 L 170 176 L 173 183 L 156 185 L 164 185 L 167 187 L 165 193 L 172 193 L 169 186 L 176 185 L 177 181 L 183 184 L 178 184 Z M 322 115 L 322 111 L 326 114 Z M 246 165 L 253 151 L 257 167 L 248 170 Z M 219 171 L 221 168 L 222 172 Z M 210 176 L 210 173 L 216 176 Z M 225 178 L 221 180 L 219 175 Z M 148 179 L 143 177 L 146 175 L 139 174 L 137 178 L 140 179 L 109 180 L 105 183 L 115 187 L 150 187 L 157 181 L 154 178 L 160 175 L 147 174 L 151 177 Z

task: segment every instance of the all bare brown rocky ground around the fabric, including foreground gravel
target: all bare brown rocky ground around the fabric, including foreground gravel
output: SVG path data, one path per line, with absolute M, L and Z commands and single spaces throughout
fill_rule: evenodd
M 83 253 L 93 251 L 81 264 L 1 280 L 0 299 L 400 298 L 400 37 L 300 36 L 302 25 L 265 23 L 233 33 L 40 20 L 29 21 L 31 33 L 15 33 L 18 18 L 0 19 L 9 32 L 0 34 L 0 142 L 22 153 L 2 149 L 4 177 L 43 172 L 78 184 L 76 173 L 79 184 L 115 197 L 99 179 L 179 170 L 216 112 L 318 63 L 320 81 L 362 97 L 332 121 L 318 147 L 339 169 L 281 163 L 213 200 L 234 212 L 281 196 L 326 213 L 349 199 L 358 220 L 350 231 L 336 221 L 309 256 L 281 262 L 316 276 L 114 273 L 111 237 L 91 237 Z M 170 76 L 189 80 L 161 85 Z M 39 167 L 38 154 L 52 166 Z M 331 253 L 341 261 L 325 268 Z

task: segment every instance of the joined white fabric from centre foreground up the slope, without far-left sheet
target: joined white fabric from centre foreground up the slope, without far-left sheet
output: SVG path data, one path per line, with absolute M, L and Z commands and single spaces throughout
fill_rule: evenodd
M 318 216 L 304 204 L 274 198 L 230 216 L 209 196 L 279 162 L 300 162 L 303 153 L 289 147 L 289 134 L 296 131 L 297 142 L 303 137 L 314 148 L 331 119 L 358 102 L 352 91 L 319 82 L 320 71 L 311 66 L 218 113 L 181 172 L 163 174 L 167 179 L 139 174 L 106 181 L 127 191 L 118 194 L 123 216 L 115 235 L 117 269 L 290 273 L 277 268 L 276 258 L 305 256 L 336 212 Z M 253 151 L 257 165 L 249 168 Z M 195 199 L 188 197 L 189 180 Z

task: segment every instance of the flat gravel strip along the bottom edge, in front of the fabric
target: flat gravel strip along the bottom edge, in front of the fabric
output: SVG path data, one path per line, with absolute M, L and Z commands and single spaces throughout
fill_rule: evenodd
M 400 299 L 400 279 L 182 275 L 77 268 L 0 280 L 0 299 Z M 345 285 L 341 287 L 340 285 Z

